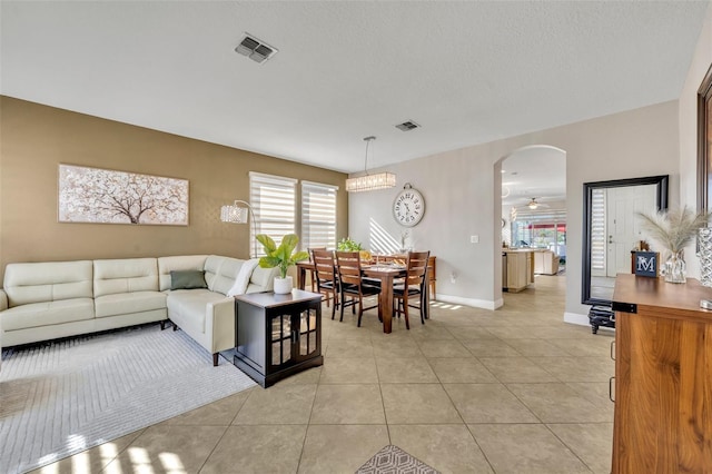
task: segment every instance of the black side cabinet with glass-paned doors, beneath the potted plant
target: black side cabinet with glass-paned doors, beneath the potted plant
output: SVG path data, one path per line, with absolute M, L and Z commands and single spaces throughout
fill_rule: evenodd
M 239 295 L 235 317 L 234 364 L 263 387 L 324 364 L 320 294 Z

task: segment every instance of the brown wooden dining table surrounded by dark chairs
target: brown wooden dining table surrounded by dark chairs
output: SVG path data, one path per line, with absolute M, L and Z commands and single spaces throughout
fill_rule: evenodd
M 406 276 L 404 265 L 393 263 L 385 264 L 362 264 L 362 275 L 368 278 L 377 278 L 380 280 L 380 296 L 378 297 L 379 313 L 383 317 L 383 332 L 390 334 L 393 330 L 393 286 L 396 278 Z M 315 270 L 315 265 L 310 260 L 297 261 L 297 288 L 304 289 L 306 285 L 307 271 Z M 427 274 L 425 276 L 427 282 Z M 428 285 L 424 285 L 425 292 L 421 304 L 423 306 L 425 318 L 429 317 Z

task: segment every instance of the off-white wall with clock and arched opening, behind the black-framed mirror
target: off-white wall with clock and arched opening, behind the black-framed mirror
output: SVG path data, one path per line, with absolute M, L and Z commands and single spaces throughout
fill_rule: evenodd
M 349 196 L 350 235 L 368 246 L 369 226 L 375 223 L 399 238 L 390 205 L 411 182 L 426 199 L 425 217 L 412 233 L 417 249 L 437 256 L 438 299 L 497 307 L 502 302 L 500 161 L 525 146 L 555 146 L 566 151 L 566 313 L 585 317 L 589 307 L 580 304 L 582 185 L 670 175 L 671 204 L 676 205 L 678 117 L 678 101 L 669 101 L 384 168 L 396 174 L 397 187 Z M 472 235 L 479 237 L 479 244 L 469 243 Z

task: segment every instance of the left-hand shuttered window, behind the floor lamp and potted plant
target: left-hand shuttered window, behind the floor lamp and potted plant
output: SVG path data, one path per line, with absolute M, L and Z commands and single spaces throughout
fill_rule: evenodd
M 267 234 L 279 244 L 285 235 L 296 233 L 296 179 L 249 174 L 249 200 L 255 211 L 257 234 Z M 255 235 L 250 235 L 250 243 L 253 255 L 265 255 Z

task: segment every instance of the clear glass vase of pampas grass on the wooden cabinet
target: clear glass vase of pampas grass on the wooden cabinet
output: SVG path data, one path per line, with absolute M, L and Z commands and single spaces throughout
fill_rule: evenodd
M 684 249 L 692 241 L 698 229 L 706 225 L 710 215 L 694 213 L 686 206 L 654 215 L 643 213 L 637 215 L 641 217 L 641 229 L 665 249 L 665 263 L 662 267 L 665 282 L 685 283 Z

